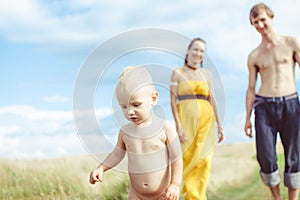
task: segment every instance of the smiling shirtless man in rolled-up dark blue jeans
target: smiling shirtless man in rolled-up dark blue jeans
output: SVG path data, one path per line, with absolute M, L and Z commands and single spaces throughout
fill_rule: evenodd
M 261 43 L 248 57 L 245 133 L 252 137 L 250 115 L 255 108 L 257 160 L 261 178 L 274 197 L 280 198 L 280 173 L 276 164 L 276 139 L 280 134 L 285 155 L 284 184 L 289 200 L 300 188 L 300 106 L 295 86 L 295 64 L 300 63 L 300 40 L 280 35 L 272 26 L 274 13 L 260 3 L 250 11 L 250 22 Z M 255 93 L 257 75 L 261 87 Z

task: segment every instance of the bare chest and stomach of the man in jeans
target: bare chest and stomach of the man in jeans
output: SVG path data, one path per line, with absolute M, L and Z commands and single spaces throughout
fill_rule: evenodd
M 252 59 L 261 76 L 259 95 L 275 97 L 296 92 L 293 54 L 286 36 L 281 36 L 276 44 L 261 43 L 253 52 Z

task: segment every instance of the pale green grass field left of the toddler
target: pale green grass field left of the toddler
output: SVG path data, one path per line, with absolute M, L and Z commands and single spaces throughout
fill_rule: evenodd
M 0 199 L 126 199 L 126 173 L 111 170 L 101 186 L 88 183 L 96 165 L 90 157 L 0 160 Z

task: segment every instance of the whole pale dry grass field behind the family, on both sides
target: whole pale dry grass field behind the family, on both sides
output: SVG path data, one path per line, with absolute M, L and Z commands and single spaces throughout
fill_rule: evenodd
M 282 153 L 279 146 L 278 152 Z M 279 165 L 283 169 L 283 155 Z M 90 185 L 89 173 L 98 165 L 90 156 L 46 160 L 0 160 L 0 199 L 127 199 L 127 173 L 110 170 L 104 182 Z M 218 145 L 213 158 L 208 199 L 270 199 L 262 184 L 255 160 L 255 147 L 250 144 Z M 282 187 L 286 199 L 286 189 Z

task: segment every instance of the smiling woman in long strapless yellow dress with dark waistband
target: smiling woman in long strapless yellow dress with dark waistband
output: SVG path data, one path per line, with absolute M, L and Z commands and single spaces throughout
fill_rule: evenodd
M 185 64 L 171 77 L 171 107 L 183 157 L 181 194 L 186 200 L 206 200 L 213 148 L 223 140 L 213 95 L 211 73 L 203 69 L 205 41 L 195 38 L 187 49 Z M 215 128 L 217 125 L 217 128 Z

